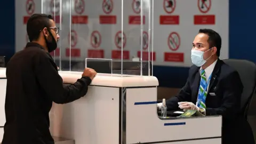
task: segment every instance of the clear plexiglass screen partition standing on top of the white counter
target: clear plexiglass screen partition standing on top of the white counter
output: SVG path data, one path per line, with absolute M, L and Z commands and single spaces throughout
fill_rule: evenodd
M 108 65 L 112 74 L 152 74 L 153 0 L 42 0 L 42 13 L 60 29 L 51 53 L 60 70 Z

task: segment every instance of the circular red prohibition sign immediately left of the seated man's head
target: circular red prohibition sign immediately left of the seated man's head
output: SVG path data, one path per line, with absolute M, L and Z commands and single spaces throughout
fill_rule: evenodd
M 172 51 L 177 51 L 180 47 L 180 36 L 176 32 L 172 32 L 167 38 L 167 44 Z

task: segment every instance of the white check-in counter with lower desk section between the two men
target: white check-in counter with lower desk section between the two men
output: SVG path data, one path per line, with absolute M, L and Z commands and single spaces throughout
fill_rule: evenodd
M 82 73 L 60 71 L 66 84 Z M 221 116 L 157 115 L 158 81 L 153 76 L 98 74 L 87 94 L 50 112 L 51 133 L 76 144 L 221 143 Z

